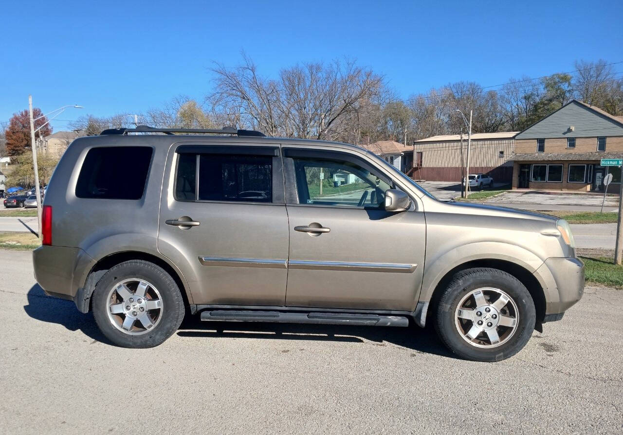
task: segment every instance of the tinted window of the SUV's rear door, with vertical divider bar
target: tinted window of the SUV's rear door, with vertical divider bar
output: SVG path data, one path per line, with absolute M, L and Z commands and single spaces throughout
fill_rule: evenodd
M 272 202 L 272 161 L 272 156 L 179 154 L 176 199 Z

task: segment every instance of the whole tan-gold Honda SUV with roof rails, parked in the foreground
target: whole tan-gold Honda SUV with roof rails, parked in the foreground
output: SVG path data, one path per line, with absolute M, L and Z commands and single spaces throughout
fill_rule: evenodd
M 206 321 L 430 322 L 460 357 L 495 361 L 582 296 L 564 220 L 439 201 L 356 146 L 133 132 L 178 131 L 70 144 L 33 254 L 45 292 L 92 309 L 117 345 L 161 344 L 188 309 Z

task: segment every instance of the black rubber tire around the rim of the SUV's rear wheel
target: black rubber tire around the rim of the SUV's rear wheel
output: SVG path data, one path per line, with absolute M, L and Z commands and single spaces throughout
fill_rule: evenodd
M 129 335 L 115 327 L 108 317 L 110 289 L 128 278 L 140 278 L 158 288 L 162 299 L 161 318 L 153 329 L 142 335 Z M 108 340 L 121 347 L 146 348 L 162 344 L 178 330 L 184 319 L 184 300 L 178 284 L 163 268 L 149 261 L 130 260 L 117 264 L 105 273 L 92 296 L 93 317 Z

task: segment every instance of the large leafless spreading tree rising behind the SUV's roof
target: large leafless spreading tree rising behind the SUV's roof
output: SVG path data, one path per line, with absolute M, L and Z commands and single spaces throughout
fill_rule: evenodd
M 339 138 L 340 119 L 361 111 L 383 84 L 382 77 L 350 60 L 295 65 L 283 69 L 277 80 L 260 77 L 244 54 L 243 61 L 236 68 L 218 63 L 213 68 L 212 111 L 271 136 Z

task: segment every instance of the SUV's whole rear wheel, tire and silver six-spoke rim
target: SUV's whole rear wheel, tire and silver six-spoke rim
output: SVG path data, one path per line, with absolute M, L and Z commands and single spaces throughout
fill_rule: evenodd
M 102 276 L 93 292 L 93 317 L 122 347 L 154 347 L 178 329 L 184 301 L 171 275 L 156 264 L 130 260 Z

